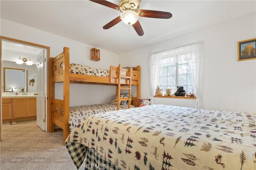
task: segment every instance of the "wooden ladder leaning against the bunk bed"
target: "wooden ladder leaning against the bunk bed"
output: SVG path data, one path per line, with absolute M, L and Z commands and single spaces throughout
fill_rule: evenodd
M 122 68 L 121 64 L 118 66 L 118 86 L 117 86 L 117 110 L 120 108 L 120 102 L 128 100 L 128 108 L 131 108 L 131 88 L 132 88 L 132 68 L 129 68 L 128 75 L 122 75 L 121 73 L 127 70 Z M 124 80 L 124 81 L 122 81 Z M 126 82 L 125 85 L 121 85 L 122 82 Z M 128 90 L 128 98 L 120 98 L 121 90 Z

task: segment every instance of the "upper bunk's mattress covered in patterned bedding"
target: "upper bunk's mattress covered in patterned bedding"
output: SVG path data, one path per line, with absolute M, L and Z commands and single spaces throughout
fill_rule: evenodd
M 109 70 L 93 68 L 93 67 L 85 66 L 82 64 L 74 64 L 74 63 L 70 64 L 69 71 L 70 73 L 73 73 L 73 74 L 109 77 Z

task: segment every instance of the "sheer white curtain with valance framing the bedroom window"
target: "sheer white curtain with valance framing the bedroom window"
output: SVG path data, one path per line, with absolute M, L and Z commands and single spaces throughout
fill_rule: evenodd
M 194 81 L 194 94 L 196 95 L 196 108 L 203 108 L 201 100 L 201 77 L 202 77 L 202 60 L 203 60 L 203 44 L 196 42 L 172 50 L 153 53 L 150 55 L 150 92 L 154 96 L 156 85 L 159 84 L 160 67 L 163 62 L 176 62 L 176 60 L 189 60 L 192 62 L 191 69 Z M 152 99 L 152 102 L 154 100 Z

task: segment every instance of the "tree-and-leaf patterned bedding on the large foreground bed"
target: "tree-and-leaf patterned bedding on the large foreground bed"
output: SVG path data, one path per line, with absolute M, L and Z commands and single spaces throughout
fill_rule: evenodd
M 82 121 L 66 147 L 77 168 L 88 153 L 111 169 L 255 170 L 256 113 L 168 105 L 110 111 Z

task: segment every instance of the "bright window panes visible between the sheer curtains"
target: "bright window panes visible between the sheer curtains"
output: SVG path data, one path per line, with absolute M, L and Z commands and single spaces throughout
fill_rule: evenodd
M 160 61 L 159 84 L 163 89 L 171 88 L 176 92 L 177 86 L 183 86 L 187 93 L 194 92 L 194 63 L 190 57 L 184 55 L 176 56 L 176 59 L 169 60 L 169 57 Z

